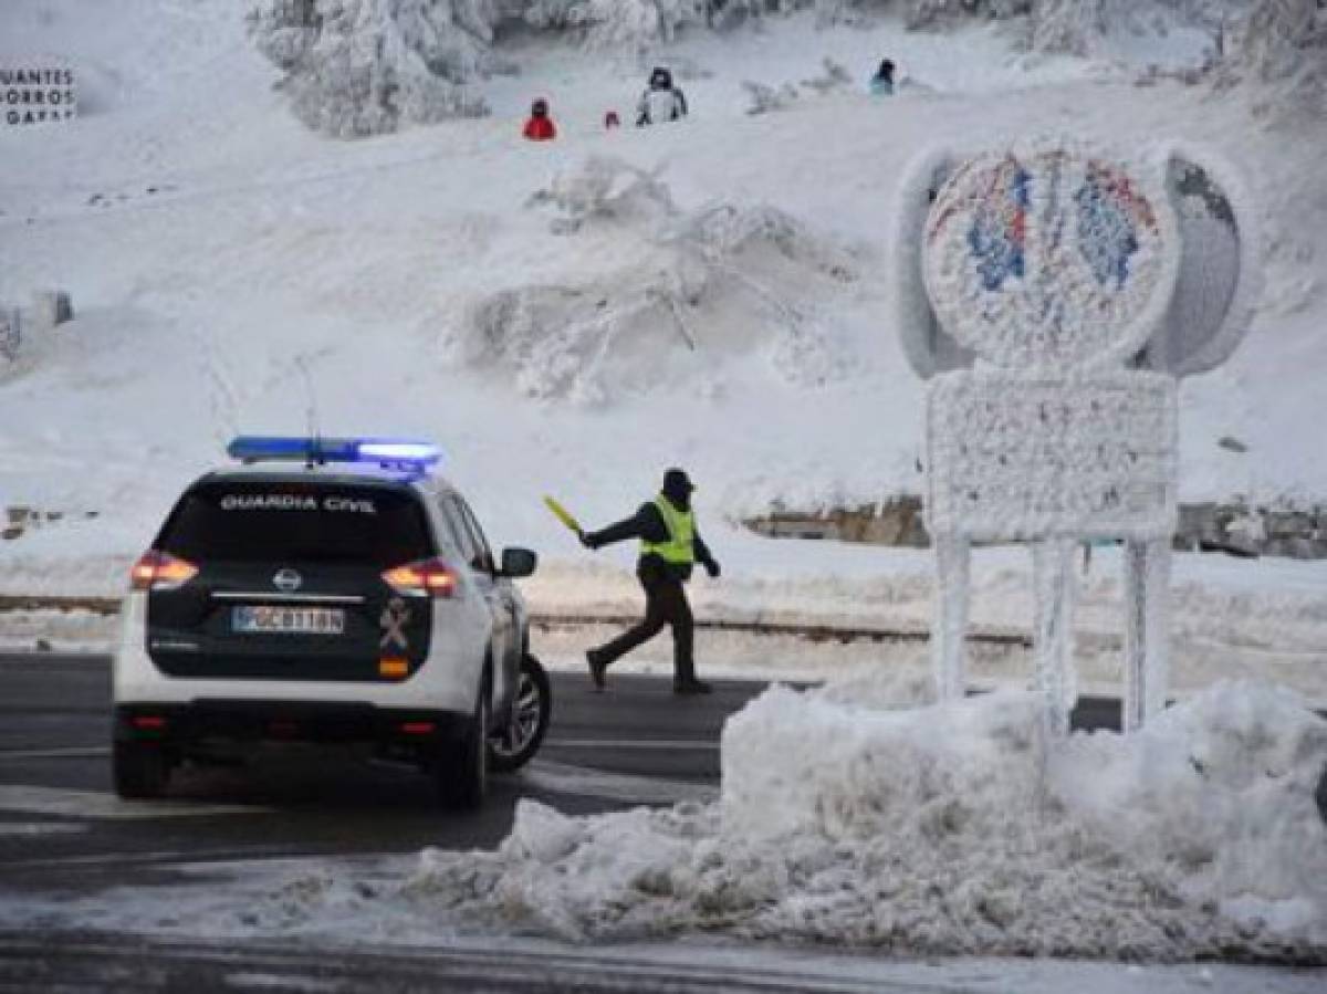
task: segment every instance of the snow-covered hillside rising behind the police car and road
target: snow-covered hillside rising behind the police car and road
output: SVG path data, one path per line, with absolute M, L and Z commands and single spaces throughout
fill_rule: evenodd
M 236 8 L 0 9 L 5 52 L 73 60 L 82 111 L 0 133 L 0 303 L 58 285 L 77 312 L 0 369 L 0 504 L 100 512 L 0 547 L 7 585 L 49 581 L 42 564 L 72 589 L 118 583 L 227 438 L 305 429 L 311 385 L 325 433 L 437 438 L 498 540 L 553 556 L 579 552 L 543 492 L 601 522 L 670 463 L 701 482 L 711 530 L 916 491 L 921 384 L 886 279 L 896 187 L 926 147 L 1047 131 L 1125 153 L 1184 138 L 1243 171 L 1269 288 L 1235 360 L 1185 384 L 1182 496 L 1327 495 L 1311 378 L 1327 127 L 1269 125 L 1265 90 L 1140 85 L 1105 56 L 1027 54 L 1005 24 L 819 29 L 808 13 L 652 54 L 686 88 L 677 126 L 602 129 L 609 109 L 630 119 L 634 60 L 512 38 L 519 73 L 484 84 L 491 117 L 346 143 L 292 118 Z M 1137 50 L 1202 57 L 1182 32 Z M 882 54 L 920 85 L 868 97 Z M 746 81 L 798 96 L 748 115 Z M 556 142 L 518 137 L 533 96 Z M 766 559 L 755 539 L 721 544 Z

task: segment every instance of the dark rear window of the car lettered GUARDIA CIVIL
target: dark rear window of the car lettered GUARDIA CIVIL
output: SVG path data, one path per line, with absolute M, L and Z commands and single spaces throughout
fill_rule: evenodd
M 194 563 L 393 567 L 433 555 L 427 520 L 409 490 L 251 480 L 190 490 L 157 547 Z

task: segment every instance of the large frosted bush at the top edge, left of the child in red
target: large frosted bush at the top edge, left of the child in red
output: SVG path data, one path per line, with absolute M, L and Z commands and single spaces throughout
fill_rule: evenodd
M 491 66 L 494 0 L 265 0 L 259 50 L 309 127 L 342 138 L 488 113 L 467 84 Z

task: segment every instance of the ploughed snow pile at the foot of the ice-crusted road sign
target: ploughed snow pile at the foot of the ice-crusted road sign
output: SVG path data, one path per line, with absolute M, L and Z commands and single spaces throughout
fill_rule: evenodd
M 924 954 L 1327 957 L 1327 723 L 1223 683 L 1136 737 L 1048 752 L 1031 694 L 775 687 L 723 734 L 718 804 L 518 808 L 426 851 L 418 913 L 567 940 L 679 932 Z

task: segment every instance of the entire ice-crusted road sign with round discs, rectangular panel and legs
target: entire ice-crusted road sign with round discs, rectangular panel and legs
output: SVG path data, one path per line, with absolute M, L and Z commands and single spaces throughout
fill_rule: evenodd
M 1032 547 L 1036 686 L 1068 730 L 1072 556 L 1125 545 L 1124 726 L 1165 703 L 1177 376 L 1223 361 L 1257 276 L 1247 208 L 1186 151 L 1070 142 L 924 159 L 904 188 L 900 329 L 926 401 L 937 693 L 965 690 L 973 541 Z

